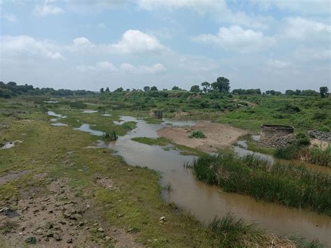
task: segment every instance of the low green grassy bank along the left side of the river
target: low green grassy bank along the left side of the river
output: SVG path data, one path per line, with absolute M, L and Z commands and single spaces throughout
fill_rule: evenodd
M 91 207 L 98 206 L 103 219 L 119 228 L 131 228 L 136 240 L 149 247 L 265 247 L 271 242 L 279 247 L 300 245 L 235 221 L 233 217 L 215 219 L 209 228 L 203 227 L 191 215 L 161 200 L 159 175 L 154 171 L 147 168 L 128 171 L 130 166 L 120 157 L 112 156 L 110 149 L 84 148 L 98 137 L 73 131 L 71 125 L 50 126 L 43 107 L 34 103 L 1 101 L 0 104 L 0 109 L 6 110 L 0 115 L 1 124 L 6 125 L 0 130 L 1 138 L 22 140 L 12 149 L 0 149 L 0 175 L 29 171 L 20 179 L 0 186 L 1 204 L 13 196 L 20 199 L 23 191 L 35 187 L 43 189 L 43 194 L 47 195 L 50 182 L 65 179 L 75 194 L 91 200 L 94 203 Z M 14 113 L 16 110 L 21 112 Z M 69 112 L 64 110 L 62 113 Z M 84 118 L 94 114 L 86 115 Z M 69 115 L 68 124 L 72 122 L 68 121 L 70 119 Z M 95 120 L 94 123 L 98 122 Z M 118 133 L 125 133 L 123 127 L 117 128 Z M 117 190 L 97 184 L 96 175 L 110 177 Z M 166 217 L 165 224 L 159 223 L 161 216 Z M 6 239 L 6 236 L 0 237 Z

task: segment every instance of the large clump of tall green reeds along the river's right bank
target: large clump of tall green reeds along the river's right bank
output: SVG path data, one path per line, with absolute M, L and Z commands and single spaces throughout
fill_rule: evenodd
M 331 215 L 330 175 L 303 166 L 272 164 L 253 155 L 239 158 L 227 153 L 196 159 L 193 171 L 198 180 L 224 191 Z

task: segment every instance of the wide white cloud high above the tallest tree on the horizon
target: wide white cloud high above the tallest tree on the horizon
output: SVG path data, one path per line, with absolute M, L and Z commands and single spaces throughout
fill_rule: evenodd
M 260 31 L 242 29 L 242 27 L 239 26 L 229 28 L 221 27 L 219 33 L 216 35 L 200 34 L 199 36 L 193 37 L 192 40 L 198 43 L 219 45 L 226 50 L 235 50 L 237 52 L 261 50 L 270 45 L 274 45 L 276 42 L 274 38 L 265 36 Z

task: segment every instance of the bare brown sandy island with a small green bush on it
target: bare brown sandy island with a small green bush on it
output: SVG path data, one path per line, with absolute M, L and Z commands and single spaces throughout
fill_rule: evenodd
M 190 133 L 196 130 L 203 131 L 206 138 L 189 138 Z M 226 124 L 198 122 L 195 126 L 168 126 L 159 129 L 157 133 L 178 145 L 201 149 L 205 152 L 216 152 L 219 148 L 229 147 L 238 137 L 248 132 Z

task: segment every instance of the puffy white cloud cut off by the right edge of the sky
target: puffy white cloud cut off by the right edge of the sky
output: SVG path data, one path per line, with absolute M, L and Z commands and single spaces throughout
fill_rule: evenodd
M 314 22 L 302 17 L 288 17 L 286 19 L 286 36 L 290 38 L 311 38 L 318 34 L 326 34 L 330 40 L 331 25 Z

